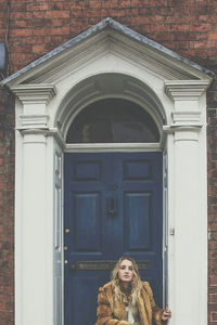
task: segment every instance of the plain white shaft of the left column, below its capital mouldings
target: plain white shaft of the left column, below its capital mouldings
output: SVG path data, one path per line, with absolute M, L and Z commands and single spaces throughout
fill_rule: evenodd
M 21 257 L 23 325 L 46 325 L 48 297 L 44 288 L 49 281 L 46 269 L 49 231 L 46 213 L 46 144 L 43 134 L 24 135 Z

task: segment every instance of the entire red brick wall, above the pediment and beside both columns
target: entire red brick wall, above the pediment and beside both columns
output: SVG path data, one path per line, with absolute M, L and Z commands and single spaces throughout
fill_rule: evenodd
M 216 0 L 0 0 L 0 6 L 10 73 L 106 16 L 217 72 Z M 216 90 L 208 92 L 209 325 L 217 324 Z M 0 89 L 0 325 L 13 324 L 13 112 L 12 98 Z

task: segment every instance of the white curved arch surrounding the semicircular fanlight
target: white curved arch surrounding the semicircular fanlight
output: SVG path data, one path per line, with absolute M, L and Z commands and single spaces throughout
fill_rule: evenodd
M 54 127 L 60 129 L 64 140 L 76 116 L 89 104 L 104 99 L 123 99 L 138 104 L 155 121 L 161 134 L 159 146 L 164 143 L 163 126 L 167 125 L 167 117 L 157 95 L 141 80 L 115 73 L 93 75 L 66 93 L 54 120 Z M 72 145 L 67 147 L 73 148 Z

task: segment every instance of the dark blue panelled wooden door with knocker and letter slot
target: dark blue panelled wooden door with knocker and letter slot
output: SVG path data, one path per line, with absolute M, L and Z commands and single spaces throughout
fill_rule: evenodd
M 162 153 L 65 154 L 65 325 L 93 325 L 113 261 L 139 261 L 162 304 Z

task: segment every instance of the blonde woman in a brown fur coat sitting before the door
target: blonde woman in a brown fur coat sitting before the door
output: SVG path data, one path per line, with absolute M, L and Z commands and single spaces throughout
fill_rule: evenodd
M 133 259 L 122 257 L 112 273 L 112 281 L 99 289 L 95 325 L 157 325 L 171 312 L 158 308 L 148 282 L 141 282 Z M 162 323 L 163 321 L 163 323 Z

